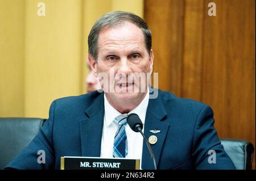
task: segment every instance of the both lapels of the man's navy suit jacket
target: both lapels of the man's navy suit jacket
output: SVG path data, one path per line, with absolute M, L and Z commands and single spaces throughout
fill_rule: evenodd
M 100 111 L 99 111 L 100 110 Z M 104 94 L 100 94 L 92 106 L 85 111 L 86 118 L 80 121 L 81 149 L 83 157 L 100 157 L 101 137 L 104 120 Z M 169 124 L 162 120 L 167 113 L 164 109 L 160 96 L 156 99 L 150 99 L 146 113 L 144 125 L 144 134 L 146 138 L 155 135 L 158 138 L 156 144 L 151 145 L 155 154 L 156 165 L 158 165 L 164 140 L 166 138 Z M 160 130 L 153 134 L 150 130 Z M 147 149 L 146 142 L 143 142 L 142 151 L 142 169 L 152 170 L 154 164 Z

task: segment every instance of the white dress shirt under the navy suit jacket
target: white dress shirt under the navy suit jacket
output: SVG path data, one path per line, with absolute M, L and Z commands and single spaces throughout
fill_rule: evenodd
M 146 117 L 146 111 L 149 100 L 149 90 L 142 100 L 142 102 L 134 108 L 134 110 L 129 113 L 137 113 L 139 118 L 143 123 L 142 132 L 144 132 L 144 123 Z M 101 157 L 102 158 L 113 158 L 113 145 L 115 132 L 117 132 L 118 125 L 115 123 L 114 119 L 118 115 L 121 115 L 120 112 L 113 108 L 104 94 L 104 106 L 105 106 L 105 115 L 104 115 L 104 124 L 102 129 L 102 138 L 101 138 Z M 128 154 L 126 158 L 131 159 L 140 159 L 142 161 L 142 147 L 143 147 L 143 137 L 141 133 L 134 132 L 131 130 L 128 124 L 125 125 L 125 131 L 127 136 L 127 145 L 128 145 Z

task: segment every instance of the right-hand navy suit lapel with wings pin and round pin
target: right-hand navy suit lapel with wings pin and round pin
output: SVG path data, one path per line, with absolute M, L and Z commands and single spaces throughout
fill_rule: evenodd
M 166 138 L 169 124 L 163 122 L 162 120 L 166 117 L 167 113 L 164 109 L 162 99 L 159 98 L 150 99 L 148 102 L 148 108 L 146 113 L 146 120 L 144 125 L 144 134 L 146 138 L 149 138 L 151 135 L 155 135 L 158 140 L 156 144 L 151 145 L 153 153 L 155 155 L 156 165 L 158 165 L 164 140 Z M 159 133 L 151 133 L 150 130 L 159 130 Z M 143 142 L 143 151 L 142 151 L 142 169 L 152 170 L 154 169 L 154 164 L 148 151 L 147 144 Z

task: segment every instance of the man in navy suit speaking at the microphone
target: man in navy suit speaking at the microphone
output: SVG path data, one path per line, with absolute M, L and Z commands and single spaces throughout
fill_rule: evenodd
M 88 44 L 88 60 L 104 92 L 55 100 L 43 128 L 7 168 L 60 169 L 61 156 L 84 156 L 141 159 L 142 169 L 154 169 L 142 136 L 123 121 L 127 114 L 137 113 L 145 136 L 154 135 L 151 146 L 158 169 L 234 169 L 209 106 L 157 89 L 153 92 L 158 96 L 150 99 L 144 85 L 154 55 L 151 32 L 141 18 L 110 12 L 94 24 Z M 130 78 L 131 74 L 137 75 Z M 37 162 L 38 150 L 46 151 L 46 163 Z M 215 161 L 210 161 L 212 153 Z

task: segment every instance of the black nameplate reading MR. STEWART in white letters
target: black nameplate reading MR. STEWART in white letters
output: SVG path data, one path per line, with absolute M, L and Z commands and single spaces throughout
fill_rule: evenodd
M 61 157 L 61 170 L 139 170 L 139 159 Z

